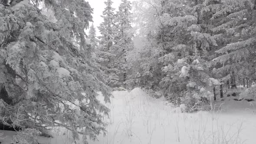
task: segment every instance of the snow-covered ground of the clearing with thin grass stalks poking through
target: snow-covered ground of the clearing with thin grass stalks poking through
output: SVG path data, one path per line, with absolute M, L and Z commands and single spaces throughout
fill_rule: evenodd
M 214 112 L 181 113 L 163 98 L 149 97 L 140 88 L 113 92 L 106 136 L 89 144 L 255 144 L 256 102 L 226 98 Z M 98 97 L 103 102 L 103 97 Z M 213 105 L 214 106 L 214 105 Z M 55 138 L 40 137 L 41 144 L 72 144 L 70 134 L 56 130 Z M 0 131 L 10 144 L 13 132 Z M 82 144 L 82 143 L 81 143 Z

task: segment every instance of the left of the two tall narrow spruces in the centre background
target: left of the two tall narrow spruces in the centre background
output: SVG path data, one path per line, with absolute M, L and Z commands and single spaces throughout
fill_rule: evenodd
M 121 82 L 119 80 L 118 69 L 119 58 L 117 56 L 118 46 L 115 44 L 115 13 L 112 8 L 112 1 L 107 0 L 105 2 L 105 10 L 103 11 L 103 22 L 98 27 L 102 36 L 99 37 L 99 49 L 98 53 L 100 58 L 101 69 L 105 72 L 105 76 L 108 81 L 108 85 L 112 88 L 119 87 Z

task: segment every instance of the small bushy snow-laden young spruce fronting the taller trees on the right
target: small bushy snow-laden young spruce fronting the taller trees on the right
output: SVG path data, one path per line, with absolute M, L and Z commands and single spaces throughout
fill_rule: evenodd
M 186 58 L 178 59 L 173 66 L 165 66 L 163 71 L 167 75 L 160 84 L 166 97 L 178 105 L 184 103 L 193 110 L 213 96 L 213 86 L 220 85 L 220 82 L 210 77 L 207 61 L 203 59 L 192 62 Z

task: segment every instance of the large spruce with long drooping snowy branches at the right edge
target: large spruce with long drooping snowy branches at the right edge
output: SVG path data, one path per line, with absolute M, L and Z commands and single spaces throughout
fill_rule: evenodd
M 230 83 L 231 88 L 236 88 L 239 78 L 247 81 L 255 79 L 255 4 L 255 0 L 223 0 L 221 10 L 212 16 L 213 20 L 222 19 L 212 31 L 225 41 L 216 51 L 217 58 L 211 64 L 223 76 L 223 82 Z M 251 95 L 255 94 L 253 91 Z

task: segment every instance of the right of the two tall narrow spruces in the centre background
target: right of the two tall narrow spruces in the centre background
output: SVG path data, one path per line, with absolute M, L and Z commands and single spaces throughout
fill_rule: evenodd
M 120 82 L 125 82 L 127 78 L 128 65 L 127 52 L 133 47 L 132 43 L 132 27 L 131 27 L 131 2 L 121 0 L 118 11 L 115 15 L 115 43 L 118 45 L 117 56 L 120 58 L 118 69 L 121 71 L 119 75 Z

